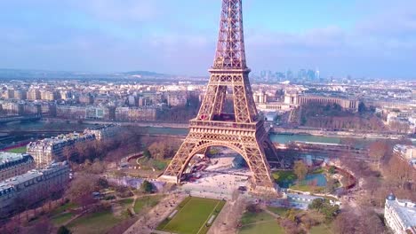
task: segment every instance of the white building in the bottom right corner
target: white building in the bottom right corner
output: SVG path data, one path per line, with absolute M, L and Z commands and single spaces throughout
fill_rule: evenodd
M 386 224 L 395 234 L 416 234 L 416 203 L 388 195 L 384 207 Z

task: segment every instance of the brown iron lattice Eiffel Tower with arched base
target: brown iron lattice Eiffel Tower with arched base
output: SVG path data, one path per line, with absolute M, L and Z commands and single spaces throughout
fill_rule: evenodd
M 187 138 L 160 179 L 180 183 L 196 153 L 224 146 L 247 162 L 252 171 L 252 192 L 276 192 L 266 158 L 266 152 L 276 157 L 276 149 L 257 113 L 250 71 L 245 62 L 242 0 L 222 0 L 217 50 L 204 100 L 196 118 L 189 121 Z M 224 113 L 226 99 L 231 96 L 228 90 L 232 92 L 234 113 Z

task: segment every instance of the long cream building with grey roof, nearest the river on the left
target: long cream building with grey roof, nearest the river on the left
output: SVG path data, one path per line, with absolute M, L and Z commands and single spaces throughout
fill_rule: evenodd
M 66 157 L 73 153 L 72 147 L 76 147 L 77 144 L 93 140 L 95 136 L 92 134 L 71 133 L 31 142 L 27 146 L 27 152 L 35 159 L 36 168 L 43 168 L 53 161 L 66 160 Z

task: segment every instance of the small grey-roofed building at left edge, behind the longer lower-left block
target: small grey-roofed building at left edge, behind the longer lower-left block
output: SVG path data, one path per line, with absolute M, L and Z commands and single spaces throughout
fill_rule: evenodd
M 0 152 L 0 182 L 33 168 L 35 160 L 27 153 Z

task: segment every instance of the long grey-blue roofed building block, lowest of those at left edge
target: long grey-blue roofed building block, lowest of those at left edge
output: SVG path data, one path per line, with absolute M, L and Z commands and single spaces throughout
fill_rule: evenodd
M 0 182 L 0 217 L 18 212 L 22 202 L 26 207 L 62 191 L 69 181 L 67 162 L 54 163 L 47 168 L 30 170 Z

